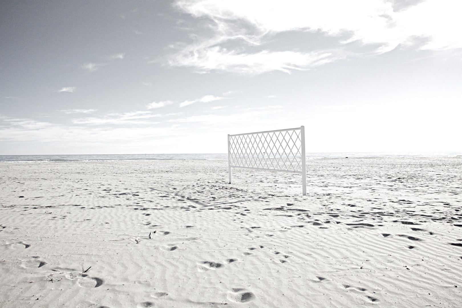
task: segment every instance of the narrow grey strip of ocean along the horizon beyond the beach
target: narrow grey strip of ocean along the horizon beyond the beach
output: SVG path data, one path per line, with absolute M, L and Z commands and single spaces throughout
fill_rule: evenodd
M 340 152 L 306 153 L 307 159 L 373 158 L 373 157 L 462 157 L 462 152 Z M 228 159 L 227 153 L 206 154 L 89 154 L 89 155 L 0 155 L 0 162 L 85 162 L 172 159 Z

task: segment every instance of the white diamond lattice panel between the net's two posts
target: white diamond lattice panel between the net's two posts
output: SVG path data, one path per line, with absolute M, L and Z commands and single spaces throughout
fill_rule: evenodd
M 230 137 L 231 166 L 301 172 L 300 129 Z

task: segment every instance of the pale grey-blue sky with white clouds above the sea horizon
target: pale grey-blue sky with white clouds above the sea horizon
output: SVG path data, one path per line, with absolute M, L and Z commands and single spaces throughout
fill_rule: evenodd
M 460 0 L 3 0 L 0 155 L 461 152 Z

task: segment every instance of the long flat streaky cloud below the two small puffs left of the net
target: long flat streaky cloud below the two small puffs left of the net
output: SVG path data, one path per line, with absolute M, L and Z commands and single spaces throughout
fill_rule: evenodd
M 73 124 L 90 124 L 90 125 L 104 125 L 104 124 L 156 124 L 158 122 L 147 121 L 153 117 L 160 117 L 163 115 L 152 114 L 151 111 L 133 111 L 125 113 L 110 113 L 101 117 L 87 117 L 80 119 L 73 119 Z

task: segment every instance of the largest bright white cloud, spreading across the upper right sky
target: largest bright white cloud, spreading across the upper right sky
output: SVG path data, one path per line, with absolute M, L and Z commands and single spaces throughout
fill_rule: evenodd
M 382 54 L 397 46 L 462 48 L 462 2 L 454 0 L 178 0 L 176 7 L 207 26 L 170 55 L 170 66 L 198 72 L 290 72 L 345 59 Z M 270 48 L 278 34 L 309 32 L 336 40 L 328 48 Z M 417 41 L 416 41 L 417 39 Z M 353 45 L 351 43 L 354 43 Z M 249 49 L 250 48 L 250 49 Z M 349 50 L 348 48 L 353 48 Z

